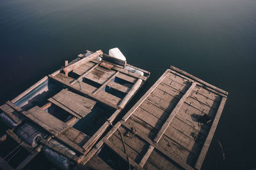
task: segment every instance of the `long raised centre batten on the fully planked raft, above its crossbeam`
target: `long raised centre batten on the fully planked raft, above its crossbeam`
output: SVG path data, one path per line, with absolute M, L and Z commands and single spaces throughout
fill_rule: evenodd
M 161 130 L 159 130 L 158 134 L 156 135 L 154 141 L 156 143 L 159 142 L 160 138 L 162 137 L 162 135 L 164 134 L 166 128 L 168 128 L 168 126 L 170 125 L 172 119 L 174 118 L 175 114 L 179 111 L 180 106 L 183 104 L 183 102 L 186 100 L 186 98 L 189 96 L 189 93 L 191 93 L 191 91 L 195 88 L 196 86 L 196 82 L 193 82 L 193 84 L 189 87 L 188 91 L 186 91 L 186 93 L 183 95 L 182 98 L 180 98 L 180 101 L 178 102 L 178 104 L 176 105 L 176 107 L 173 109 L 172 113 L 170 114 L 170 116 L 167 118 L 167 120 L 165 121 L 164 125 L 161 127 Z

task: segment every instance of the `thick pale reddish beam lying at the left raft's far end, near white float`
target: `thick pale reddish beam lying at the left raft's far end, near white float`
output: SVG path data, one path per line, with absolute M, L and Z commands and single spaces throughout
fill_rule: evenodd
M 72 65 L 66 66 L 65 68 L 63 68 L 63 71 L 65 73 L 71 72 L 72 70 L 78 68 L 79 66 L 83 65 L 84 63 L 87 63 L 88 61 L 91 61 L 92 59 L 96 59 L 97 57 L 99 57 L 102 54 L 103 54 L 102 50 L 97 50 L 90 56 L 80 59 L 79 61 L 77 61 L 76 63 L 73 63 Z

